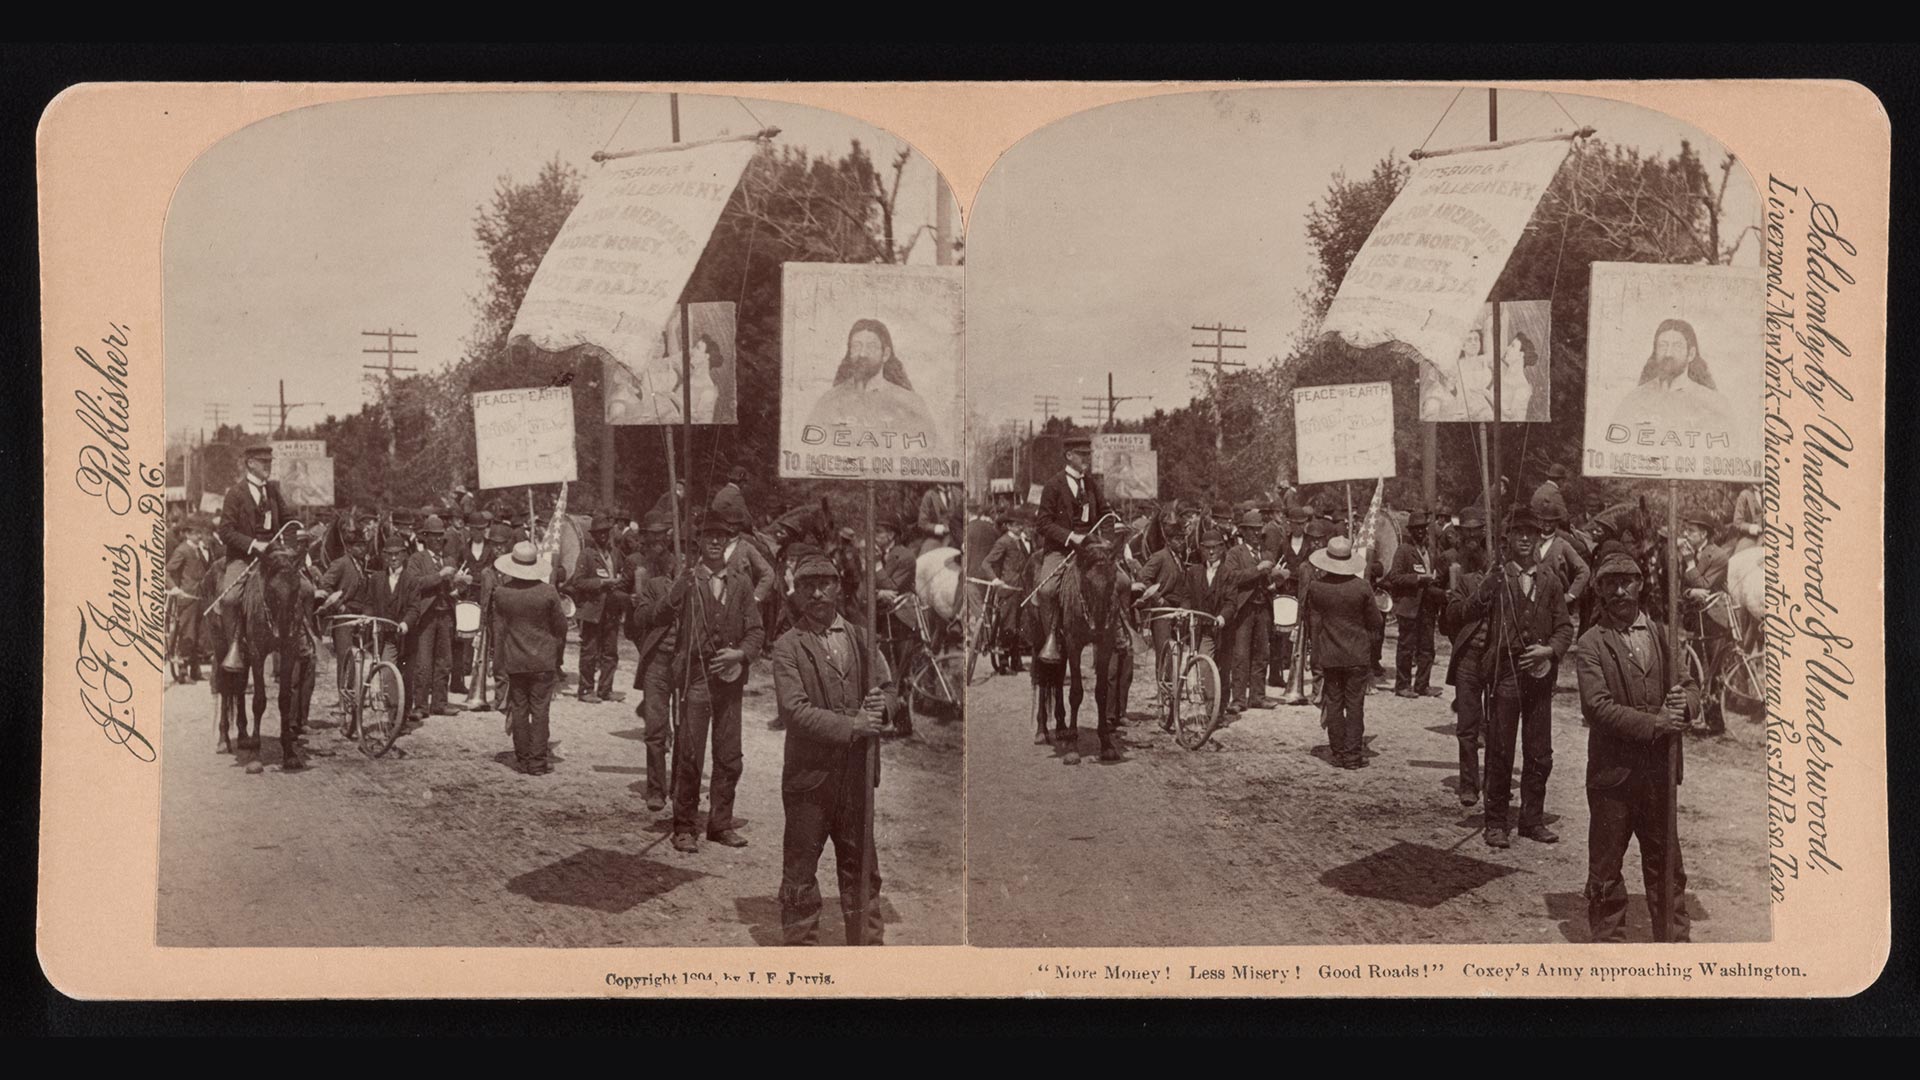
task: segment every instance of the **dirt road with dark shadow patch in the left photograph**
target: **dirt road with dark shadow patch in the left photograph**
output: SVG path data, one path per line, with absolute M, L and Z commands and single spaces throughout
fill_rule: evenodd
M 161 761 L 161 945 L 778 945 L 780 767 L 772 676 L 755 667 L 735 817 L 749 846 L 668 844 L 645 807 L 645 749 L 626 646 L 622 703 L 553 703 L 547 776 L 509 767 L 501 713 L 430 717 L 399 755 L 340 738 L 321 663 L 311 769 L 280 773 L 278 711 L 246 774 L 213 751 L 204 682 L 169 686 Z M 566 661 L 578 673 L 578 659 Z M 887 942 L 962 936 L 962 724 L 889 740 L 876 807 Z M 710 763 L 707 769 L 710 778 Z M 703 799 L 705 815 L 705 799 Z M 831 847 L 822 944 L 841 944 Z

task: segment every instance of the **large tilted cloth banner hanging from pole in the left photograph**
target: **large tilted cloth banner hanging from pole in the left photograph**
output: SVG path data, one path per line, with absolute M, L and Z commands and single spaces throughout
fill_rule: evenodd
M 643 373 L 756 150 L 741 138 L 597 167 L 534 271 L 509 344 L 589 346 Z

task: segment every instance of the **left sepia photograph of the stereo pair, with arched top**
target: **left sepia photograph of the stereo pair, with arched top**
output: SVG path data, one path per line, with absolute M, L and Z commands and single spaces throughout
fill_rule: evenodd
M 962 944 L 958 229 L 902 138 L 732 96 L 209 146 L 157 944 Z

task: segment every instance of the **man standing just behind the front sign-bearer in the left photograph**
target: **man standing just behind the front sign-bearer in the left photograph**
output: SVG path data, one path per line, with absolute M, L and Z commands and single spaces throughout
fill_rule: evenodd
M 701 809 L 701 771 L 712 730 L 714 776 L 708 790 L 707 840 L 745 847 L 733 826 L 733 788 L 745 767 L 739 742 L 741 694 L 747 667 L 760 655 L 766 628 L 753 601 L 753 582 L 728 567 L 726 544 L 733 530 L 708 515 L 701 523 L 701 561 L 674 578 L 649 623 L 668 617 L 676 625 L 684 709 L 674 742 L 674 849 L 699 851 L 695 821 Z

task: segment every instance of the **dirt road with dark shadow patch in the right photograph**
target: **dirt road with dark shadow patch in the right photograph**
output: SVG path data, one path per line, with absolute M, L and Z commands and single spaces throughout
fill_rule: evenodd
M 1394 644 L 1388 640 L 1386 661 Z M 1444 671 L 1444 650 L 1440 669 Z M 1369 767 L 1334 769 L 1319 711 L 1252 711 L 1185 751 L 1137 678 L 1125 759 L 1033 744 L 1031 684 L 968 698 L 968 940 L 975 945 L 1584 942 L 1586 728 L 1572 673 L 1553 700 L 1553 846 L 1480 840 L 1461 809 L 1452 696 L 1367 698 Z M 1693 940 L 1770 936 L 1763 728 L 1688 742 L 1680 792 Z M 1515 807 L 1519 801 L 1515 769 Z M 1651 938 L 1628 849 L 1632 940 Z

